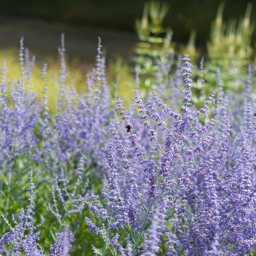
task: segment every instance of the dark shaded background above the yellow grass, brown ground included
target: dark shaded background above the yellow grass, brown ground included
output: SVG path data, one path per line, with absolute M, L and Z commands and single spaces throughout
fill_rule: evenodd
M 92 60 L 98 36 L 111 56 L 124 58 L 137 41 L 134 20 L 141 18 L 144 0 L 1 0 L 0 48 L 17 45 L 24 36 L 26 46 L 39 57 L 56 52 L 60 33 L 64 32 L 71 56 Z M 169 0 L 165 25 L 174 31 L 173 39 L 186 43 L 196 29 L 196 44 L 205 49 L 211 21 L 215 19 L 219 0 Z M 249 1 L 226 0 L 223 18 L 238 19 Z M 256 21 L 256 0 L 251 20 Z M 256 32 L 253 33 L 256 41 Z M 40 51 L 45 51 L 41 53 Z M 93 53 L 93 54 L 92 54 Z

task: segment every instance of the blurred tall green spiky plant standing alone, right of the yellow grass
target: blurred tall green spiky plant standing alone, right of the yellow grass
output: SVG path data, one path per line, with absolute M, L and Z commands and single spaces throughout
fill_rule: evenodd
M 171 45 L 172 32 L 162 25 L 168 9 L 164 3 L 151 1 L 145 3 L 142 19 L 135 20 L 135 30 L 140 39 L 135 49 L 138 54 L 134 58 L 135 72 L 141 78 L 140 88 L 146 93 L 155 86 L 154 78 L 159 69 L 156 59 L 166 61 L 174 53 Z

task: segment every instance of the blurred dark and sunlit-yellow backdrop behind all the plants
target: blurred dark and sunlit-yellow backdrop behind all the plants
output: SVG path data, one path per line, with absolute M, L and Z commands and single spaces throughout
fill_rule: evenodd
M 19 41 L 23 37 L 25 48 L 29 49 L 30 56 L 35 56 L 36 60 L 31 74 L 31 89 L 37 91 L 38 100 L 42 99 L 44 91 L 40 73 L 44 63 L 48 64 L 49 108 L 54 112 L 56 109 L 54 95 L 58 91 L 56 84 L 60 70 L 58 47 L 61 44 L 61 34 L 65 34 L 65 61 L 70 74 L 67 82 L 74 82 L 78 93 L 86 91 L 86 75 L 95 64 L 98 37 L 100 37 L 103 55 L 106 57 L 106 74 L 113 102 L 116 101 L 117 95 L 120 95 L 125 105 L 128 105 L 135 86 L 134 60 L 139 42 L 135 31 L 135 20 L 142 18 L 145 2 L 144 0 L 0 0 L 0 66 L 3 60 L 7 59 L 9 68 L 7 75 L 18 80 L 21 73 Z M 199 65 L 201 56 L 207 59 L 211 24 L 215 20 L 220 3 L 225 5 L 223 11 L 225 23 L 232 19 L 237 22 L 242 19 L 249 2 L 252 3 L 251 25 L 253 26 L 256 22 L 256 0 L 163 0 L 161 3 L 169 5 L 163 27 L 173 31 L 173 47 L 176 48 L 176 53 L 182 47 L 185 49 L 191 31 L 196 31 L 197 59 L 192 58 L 192 61 Z M 253 49 L 255 42 L 254 30 L 250 42 Z M 183 50 L 181 54 L 187 52 Z

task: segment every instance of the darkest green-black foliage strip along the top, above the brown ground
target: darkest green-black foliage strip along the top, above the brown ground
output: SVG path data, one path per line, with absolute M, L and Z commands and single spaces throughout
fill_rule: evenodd
M 164 24 L 171 24 L 175 39 L 187 41 L 193 28 L 197 29 L 197 43 L 208 38 L 211 20 L 214 19 L 219 1 L 216 0 L 163 0 L 170 6 Z M 251 1 L 256 3 L 255 0 Z M 225 0 L 225 19 L 242 15 L 247 1 Z M 2 15 L 42 18 L 86 24 L 121 30 L 133 30 L 133 20 L 140 17 L 144 0 L 1 0 Z M 256 5 L 252 19 L 256 21 Z M 118 22 L 117 22 L 118 20 Z M 256 41 L 256 33 L 253 34 Z

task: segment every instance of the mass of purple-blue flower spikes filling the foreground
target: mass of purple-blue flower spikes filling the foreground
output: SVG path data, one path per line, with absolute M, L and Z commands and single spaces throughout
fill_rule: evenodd
M 4 179 L 0 185 L 7 197 L 1 210 L 1 254 L 75 253 L 81 246 L 76 240 L 82 236 L 75 225 L 85 225 L 92 232 L 84 237 L 93 237 L 90 250 L 95 255 L 255 252 L 252 66 L 239 102 L 234 102 L 236 92 L 225 93 L 218 72 L 218 93 L 212 91 L 197 109 L 192 95 L 193 65 L 189 56 L 178 57 L 168 88 L 173 95 L 164 95 L 162 85 L 143 99 L 136 89 L 126 109 L 120 97 L 117 107 L 110 105 L 100 41 L 96 67 L 87 75 L 87 93 L 78 95 L 66 82 L 62 37 L 58 108 L 51 116 L 47 65 L 41 73 L 44 97 L 37 102 L 36 94 L 27 90 L 34 59 L 30 60 L 23 40 L 20 43 L 21 78 L 7 82 L 6 61 L 1 69 L 0 174 Z M 161 60 L 158 65 L 164 69 Z M 200 71 L 204 72 L 203 60 Z M 137 75 L 137 84 L 138 79 Z M 174 101 L 174 95 L 181 100 Z M 31 167 L 28 175 L 30 166 L 35 171 Z M 15 175 L 25 174 L 29 176 L 29 203 L 26 210 L 19 210 L 16 221 L 9 213 L 10 200 L 15 202 L 11 191 L 15 182 L 23 189 L 24 179 L 15 181 Z M 48 249 L 43 248 L 39 231 L 47 220 L 34 224 L 37 189 L 44 189 L 45 183 L 50 190 L 48 217 L 58 223 Z M 78 216 L 83 223 L 77 223 Z

